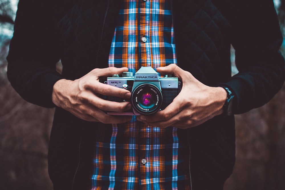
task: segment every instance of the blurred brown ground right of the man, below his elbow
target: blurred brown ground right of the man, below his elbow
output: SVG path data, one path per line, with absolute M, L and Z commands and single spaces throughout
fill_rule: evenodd
M 285 189 L 285 86 L 261 108 L 236 115 L 236 163 L 225 190 Z

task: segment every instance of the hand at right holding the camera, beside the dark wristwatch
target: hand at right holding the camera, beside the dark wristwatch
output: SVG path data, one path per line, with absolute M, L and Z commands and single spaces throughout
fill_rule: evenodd
M 209 87 L 198 81 L 190 72 L 176 64 L 159 67 L 162 75 L 172 74 L 182 81 L 182 89 L 170 105 L 152 115 L 141 115 L 137 120 L 145 124 L 166 128 L 190 128 L 223 113 L 227 92 L 222 87 Z

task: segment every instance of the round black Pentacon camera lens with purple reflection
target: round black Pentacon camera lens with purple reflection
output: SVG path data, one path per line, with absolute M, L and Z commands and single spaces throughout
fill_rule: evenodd
M 160 109 L 162 93 L 153 84 L 143 83 L 132 92 L 133 107 L 141 114 L 151 114 Z

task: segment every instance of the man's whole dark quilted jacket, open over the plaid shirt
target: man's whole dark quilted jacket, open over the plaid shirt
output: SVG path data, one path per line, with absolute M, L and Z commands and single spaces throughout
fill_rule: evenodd
M 53 84 L 108 66 L 121 0 L 20 0 L 8 77 L 27 101 L 54 107 Z M 284 82 L 282 35 L 269 0 L 172 0 L 178 66 L 235 94 L 233 113 L 268 102 Z M 231 77 L 230 46 L 239 74 Z M 55 63 L 62 61 L 62 75 Z M 96 125 L 56 108 L 48 153 L 54 189 L 87 189 Z M 109 126 L 106 125 L 106 129 Z M 234 117 L 180 130 L 193 189 L 222 189 L 235 162 Z M 191 155 L 190 155 L 191 154 Z

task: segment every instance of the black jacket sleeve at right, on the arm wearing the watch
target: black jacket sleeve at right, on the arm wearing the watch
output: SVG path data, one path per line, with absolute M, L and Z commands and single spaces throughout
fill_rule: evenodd
M 233 113 L 240 114 L 274 97 L 284 83 L 285 70 L 273 1 L 237 0 L 234 6 L 232 45 L 239 73 L 222 85 L 234 92 Z

